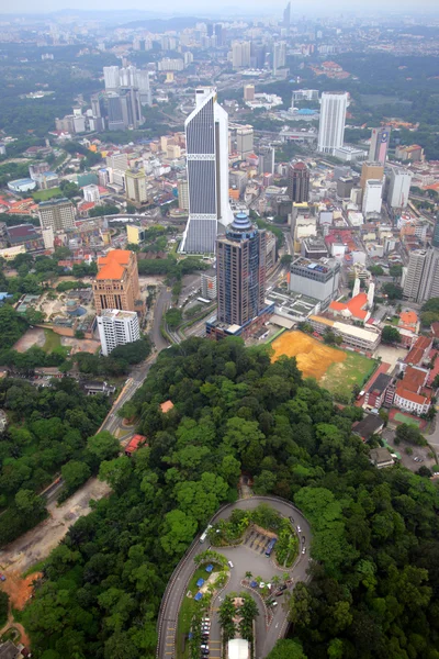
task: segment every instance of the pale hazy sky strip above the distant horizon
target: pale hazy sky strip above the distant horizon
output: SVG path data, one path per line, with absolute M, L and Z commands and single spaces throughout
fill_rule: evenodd
M 280 14 L 282 9 L 285 7 L 285 1 L 279 0 L 239 0 L 236 3 L 227 2 L 223 3 L 210 3 L 206 0 L 167 0 L 164 3 L 164 10 L 166 13 L 178 12 L 179 14 L 184 13 L 185 15 L 199 14 L 207 15 L 209 13 L 221 13 L 224 16 L 227 14 L 240 14 L 240 13 L 257 13 L 273 15 Z M 291 2 L 292 14 L 296 12 L 299 15 L 303 13 L 318 13 L 322 12 L 325 15 L 336 12 L 340 9 L 349 10 L 350 12 L 362 12 L 370 10 L 381 11 L 419 11 L 438 9 L 438 0 L 331 0 L 330 2 L 324 0 L 307 0 L 305 3 L 302 0 Z M 159 4 L 157 2 L 148 2 L 148 0 L 125 0 L 121 3 L 121 0 L 42 0 L 35 3 L 34 0 L 15 0 L 14 2 L 0 2 L 1 12 L 48 12 L 57 11 L 60 9 L 72 8 L 75 10 L 130 10 L 137 9 L 143 11 L 158 12 Z M 216 9 L 217 8 L 217 9 Z M 228 11 L 229 8 L 229 11 Z

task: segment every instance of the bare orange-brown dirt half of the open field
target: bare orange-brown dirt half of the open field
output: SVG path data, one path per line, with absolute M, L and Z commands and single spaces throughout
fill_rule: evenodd
M 346 359 L 346 353 L 336 350 L 316 340 L 303 332 L 284 332 L 271 344 L 275 361 L 282 355 L 295 357 L 297 368 L 305 378 L 320 380 L 331 364 L 341 362 Z

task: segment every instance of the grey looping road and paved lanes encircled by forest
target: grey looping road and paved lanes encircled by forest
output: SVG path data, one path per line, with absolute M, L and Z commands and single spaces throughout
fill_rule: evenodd
M 284 517 L 294 517 L 294 527 L 296 527 L 296 525 L 301 527 L 301 533 L 299 534 L 300 538 L 305 536 L 306 554 L 299 554 L 299 558 L 296 559 L 293 569 L 290 571 L 291 579 L 293 580 L 293 589 L 297 581 L 306 581 L 308 578 L 306 570 L 311 560 L 309 544 L 312 536 L 308 522 L 292 503 L 275 496 L 252 496 L 251 499 L 241 499 L 235 503 L 219 509 L 219 511 L 212 517 L 210 523 L 212 524 L 213 522 L 228 517 L 232 511 L 235 509 L 252 510 L 260 503 L 270 504 Z M 300 546 L 302 547 L 302 541 L 300 543 Z M 169 580 L 161 602 L 161 608 L 157 623 L 157 657 L 159 659 L 177 659 L 176 640 L 178 613 L 182 599 L 185 595 L 189 580 L 195 570 L 195 563 L 193 562 L 193 559 L 198 554 L 200 554 L 200 551 L 207 549 L 207 543 L 200 544 L 200 535 L 198 535 Z M 278 571 L 280 574 L 285 571 L 279 570 L 270 559 L 266 558 L 263 555 L 260 556 L 256 554 L 246 545 L 239 545 L 238 547 L 215 548 L 215 551 L 219 551 L 226 556 L 227 560 L 232 560 L 234 563 L 234 568 L 230 570 L 230 579 L 219 597 L 223 597 L 227 591 L 230 592 L 241 590 L 243 587 L 240 585 L 240 581 L 244 579 L 247 570 L 250 570 L 254 576 L 260 574 L 267 579 L 272 577 L 275 571 Z M 263 569 L 266 574 L 261 573 L 262 565 L 264 566 Z M 282 597 L 279 597 L 279 605 L 273 610 L 273 619 L 267 628 L 261 600 L 257 595 L 254 595 L 254 599 L 259 608 L 259 616 L 256 621 L 256 659 L 262 659 L 271 651 L 275 645 L 275 641 L 284 636 L 288 625 L 286 612 L 284 611 L 283 606 L 281 606 Z M 217 607 L 218 604 L 219 602 L 216 602 L 213 608 L 214 613 L 212 617 L 210 638 L 210 659 L 217 659 L 221 656 L 218 654 L 221 648 L 219 625 L 216 619 L 217 616 L 215 615 L 215 607 Z

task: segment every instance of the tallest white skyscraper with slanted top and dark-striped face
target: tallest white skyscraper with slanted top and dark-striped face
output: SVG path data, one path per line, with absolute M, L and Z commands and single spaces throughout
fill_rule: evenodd
M 228 203 L 228 115 L 213 87 L 195 91 L 195 109 L 185 127 L 189 220 L 181 252 L 215 252 L 218 224 L 233 222 Z

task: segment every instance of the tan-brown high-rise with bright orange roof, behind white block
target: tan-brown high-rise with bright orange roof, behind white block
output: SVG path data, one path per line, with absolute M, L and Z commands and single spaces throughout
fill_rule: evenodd
M 128 249 L 112 249 L 98 258 L 98 275 L 93 281 L 97 314 L 104 309 L 136 311 L 139 299 L 137 259 Z

